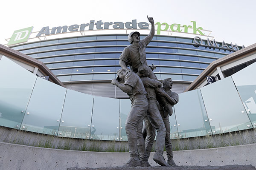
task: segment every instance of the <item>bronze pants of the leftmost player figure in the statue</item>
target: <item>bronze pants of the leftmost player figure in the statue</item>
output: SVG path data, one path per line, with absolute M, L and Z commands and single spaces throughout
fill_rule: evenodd
M 131 99 L 131 110 L 125 122 L 130 156 L 138 156 L 146 161 L 145 141 L 142 135 L 143 119 L 148 110 L 148 99 L 145 95 L 136 95 Z M 139 151 L 139 154 L 138 154 Z

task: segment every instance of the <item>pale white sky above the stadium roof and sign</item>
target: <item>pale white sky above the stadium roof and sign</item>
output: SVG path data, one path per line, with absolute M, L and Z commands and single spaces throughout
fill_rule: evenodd
M 34 26 L 70 26 L 102 22 L 180 23 L 212 31 L 216 41 L 249 46 L 256 43 L 256 0 L 9 0 L 1 2 L 0 44 L 13 31 Z

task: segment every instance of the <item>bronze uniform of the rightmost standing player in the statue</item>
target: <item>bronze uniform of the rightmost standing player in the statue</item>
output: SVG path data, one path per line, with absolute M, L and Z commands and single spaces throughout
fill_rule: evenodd
M 177 102 L 179 101 L 179 96 L 177 93 L 172 92 L 171 90 L 166 91 L 166 93 L 172 97 L 175 100 L 175 103 L 168 103 L 168 105 L 171 105 L 171 107 L 175 104 L 177 104 Z M 166 137 L 165 137 L 165 147 L 166 147 L 166 153 L 167 153 L 167 158 L 168 160 L 173 158 L 172 155 L 172 141 L 171 141 L 171 137 L 170 137 L 170 121 L 169 121 L 169 114 L 165 114 L 164 110 L 163 110 L 163 103 L 159 103 L 159 111 L 161 113 L 161 117 L 163 119 L 164 125 L 166 127 Z M 148 152 L 148 150 L 151 150 L 151 147 L 154 143 L 154 137 L 155 137 L 155 130 L 154 127 L 149 125 L 148 127 L 151 130 L 147 129 L 147 140 L 146 140 L 146 150 Z

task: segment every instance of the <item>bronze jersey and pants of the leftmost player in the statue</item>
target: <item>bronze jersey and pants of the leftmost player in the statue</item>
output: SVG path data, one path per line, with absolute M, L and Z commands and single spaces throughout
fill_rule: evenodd
M 143 82 L 140 77 L 130 71 L 125 76 L 125 85 L 130 85 L 132 90 L 128 93 L 131 99 L 131 110 L 125 122 L 125 130 L 128 137 L 129 153 L 131 157 L 140 154 L 140 160 L 146 161 L 145 141 L 142 135 L 143 119 L 148 110 L 148 99 L 146 97 Z M 137 146 L 138 145 L 138 146 Z

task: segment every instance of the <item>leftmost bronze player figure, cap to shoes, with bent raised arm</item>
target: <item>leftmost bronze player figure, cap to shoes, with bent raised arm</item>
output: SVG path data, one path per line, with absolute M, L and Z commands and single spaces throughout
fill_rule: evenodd
M 121 84 L 121 81 L 124 84 Z M 147 161 L 145 141 L 142 135 L 143 119 L 148 110 L 147 92 L 143 82 L 133 71 L 125 71 L 121 68 L 117 71 L 117 78 L 112 79 L 111 83 L 127 93 L 131 99 L 131 110 L 125 122 L 130 153 L 130 159 L 126 162 L 126 166 L 150 166 Z M 140 156 L 140 160 L 138 156 Z

